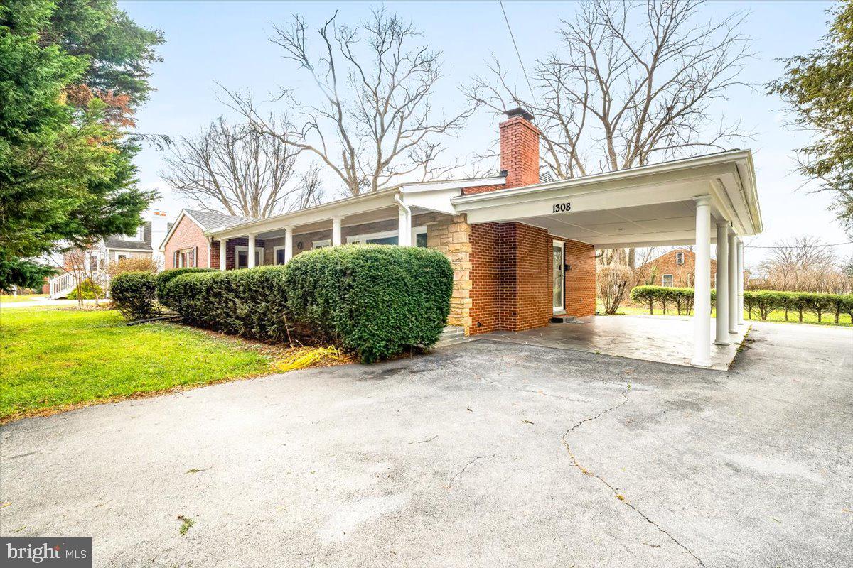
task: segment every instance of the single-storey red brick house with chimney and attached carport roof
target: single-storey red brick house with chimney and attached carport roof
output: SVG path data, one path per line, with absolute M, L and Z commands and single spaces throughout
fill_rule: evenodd
M 448 324 L 473 335 L 595 315 L 596 249 L 699 243 L 701 266 L 712 222 L 735 248 L 761 231 L 748 150 L 554 181 L 531 114 L 506 114 L 499 175 L 403 183 L 258 220 L 184 210 L 160 245 L 166 267 L 283 264 L 347 243 L 425 246 L 454 268 Z

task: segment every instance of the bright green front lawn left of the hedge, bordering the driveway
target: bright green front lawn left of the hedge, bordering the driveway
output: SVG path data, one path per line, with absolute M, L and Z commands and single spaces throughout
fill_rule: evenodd
M 177 324 L 127 326 L 110 310 L 4 310 L 0 346 L 0 421 L 254 376 L 274 364 L 253 344 Z

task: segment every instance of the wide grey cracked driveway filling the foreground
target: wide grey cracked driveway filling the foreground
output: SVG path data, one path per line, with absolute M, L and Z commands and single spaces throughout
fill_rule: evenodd
M 98 566 L 853 565 L 853 330 L 751 340 L 728 373 L 473 341 L 17 422 L 0 532 Z

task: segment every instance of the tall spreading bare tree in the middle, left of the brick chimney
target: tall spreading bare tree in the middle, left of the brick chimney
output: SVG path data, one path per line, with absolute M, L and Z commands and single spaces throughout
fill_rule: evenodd
M 384 9 L 356 27 L 339 24 L 337 15 L 316 30 L 316 53 L 301 17 L 274 27 L 270 41 L 319 91 L 310 102 L 296 100 L 292 90 L 277 98 L 299 107 L 299 135 L 282 134 L 265 120 L 251 95 L 228 92 L 229 105 L 259 133 L 316 155 L 352 195 L 392 186 L 403 176 L 433 179 L 456 167 L 439 165 L 440 139 L 460 129 L 473 106 L 450 116 L 432 108 L 440 53 L 416 45 L 420 33 Z

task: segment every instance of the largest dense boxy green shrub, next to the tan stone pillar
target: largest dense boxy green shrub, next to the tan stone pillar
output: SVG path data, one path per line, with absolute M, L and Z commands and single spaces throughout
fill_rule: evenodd
M 438 341 L 453 269 L 436 250 L 357 244 L 297 255 L 285 280 L 300 333 L 372 363 Z

